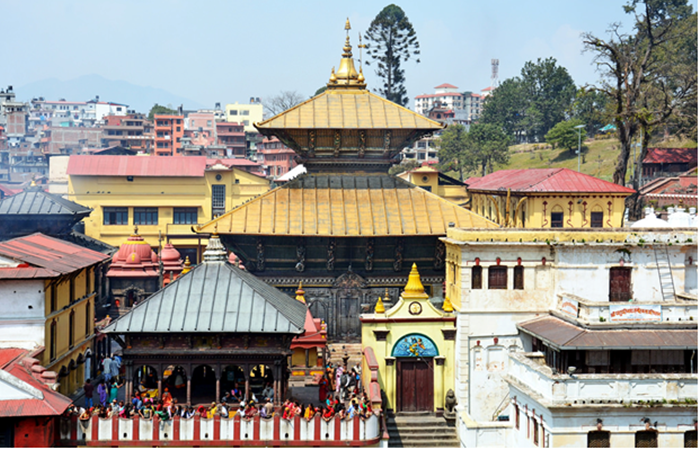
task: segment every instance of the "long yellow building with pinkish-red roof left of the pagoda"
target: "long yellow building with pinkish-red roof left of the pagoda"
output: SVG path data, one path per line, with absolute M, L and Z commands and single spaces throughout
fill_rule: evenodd
M 206 237 L 192 226 L 269 189 L 264 178 L 204 156 L 71 155 L 67 174 L 68 198 L 94 210 L 85 234 L 118 247 L 138 225 L 152 248 L 171 242 L 193 263 Z

